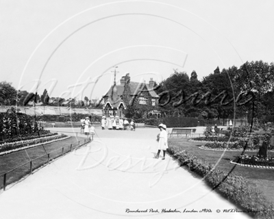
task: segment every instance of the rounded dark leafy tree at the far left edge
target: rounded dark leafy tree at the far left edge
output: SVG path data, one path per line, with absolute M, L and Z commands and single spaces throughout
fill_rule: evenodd
M 12 83 L 8 83 L 7 81 L 0 82 L 1 105 L 15 105 L 17 98 L 20 99 L 20 97 L 20 93 L 18 93 L 17 90 L 12 87 Z

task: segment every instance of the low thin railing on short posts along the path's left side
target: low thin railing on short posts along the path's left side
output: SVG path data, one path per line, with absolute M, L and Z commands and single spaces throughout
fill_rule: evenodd
M 79 149 L 79 147 L 87 144 L 88 142 L 90 142 L 90 140 L 84 139 L 82 141 L 77 141 L 73 142 L 72 144 L 62 146 L 58 149 L 47 152 L 44 155 L 35 157 L 34 159 L 29 158 L 28 162 L 16 166 L 16 168 L 12 168 L 12 170 L 8 170 L 7 172 L 4 172 L 0 175 L 0 190 L 3 188 L 5 191 L 7 185 L 15 183 L 27 175 L 32 175 L 34 170 L 49 164 L 58 157 L 62 157 L 73 150 Z

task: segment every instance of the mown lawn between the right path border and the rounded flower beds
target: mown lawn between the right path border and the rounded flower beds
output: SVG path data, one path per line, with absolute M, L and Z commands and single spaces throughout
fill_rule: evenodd
M 217 168 L 223 170 L 224 172 L 233 171 L 235 175 L 245 177 L 249 180 L 250 185 L 253 188 L 260 190 L 266 198 L 274 204 L 274 170 L 272 169 L 261 169 L 261 168 L 248 168 L 244 166 L 234 166 L 229 164 L 231 159 L 241 155 L 240 151 L 226 151 L 223 154 L 223 151 L 209 151 L 199 149 L 199 146 L 206 143 L 201 142 L 188 142 L 184 138 L 171 138 L 169 142 L 175 144 L 182 149 L 196 155 L 197 158 L 203 159 L 205 162 L 210 164 L 216 164 L 219 161 Z M 245 152 L 247 155 L 256 155 L 256 152 Z M 269 156 L 274 156 L 274 153 L 269 153 Z

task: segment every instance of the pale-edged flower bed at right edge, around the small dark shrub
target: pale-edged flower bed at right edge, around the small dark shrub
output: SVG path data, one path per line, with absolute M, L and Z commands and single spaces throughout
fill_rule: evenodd
M 269 158 L 259 158 L 255 155 L 249 156 L 249 155 L 240 155 L 239 157 L 236 157 L 232 162 L 236 164 L 245 164 L 249 166 L 273 166 L 274 167 L 274 157 Z

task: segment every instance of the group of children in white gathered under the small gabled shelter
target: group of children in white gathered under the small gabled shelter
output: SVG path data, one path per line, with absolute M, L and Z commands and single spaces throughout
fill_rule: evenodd
M 131 122 L 127 120 L 127 118 L 119 118 L 119 116 L 110 116 L 110 118 L 102 117 L 101 120 L 102 129 L 110 129 L 110 130 L 125 130 L 131 129 L 135 131 L 135 123 L 132 119 Z

